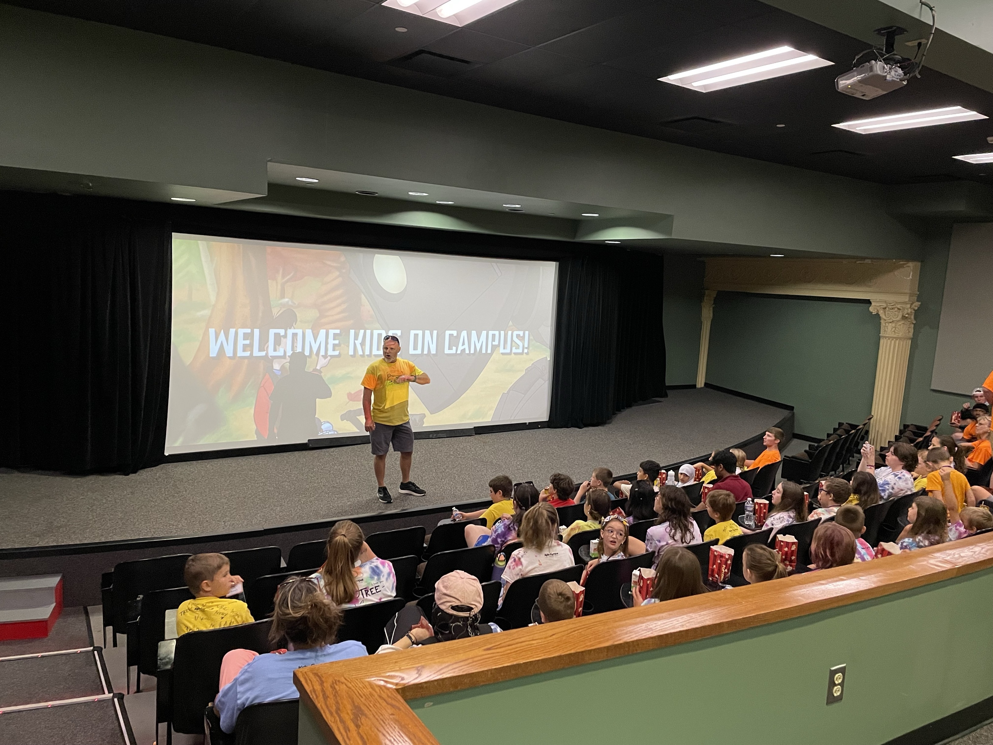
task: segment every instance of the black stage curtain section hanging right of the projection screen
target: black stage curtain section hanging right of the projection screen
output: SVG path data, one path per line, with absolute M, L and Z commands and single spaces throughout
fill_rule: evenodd
M 662 268 L 638 251 L 560 260 L 550 426 L 604 424 L 666 395 Z

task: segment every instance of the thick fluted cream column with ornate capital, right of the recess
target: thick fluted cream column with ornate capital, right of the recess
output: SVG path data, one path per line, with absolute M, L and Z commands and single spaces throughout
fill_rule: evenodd
M 921 303 L 873 300 L 870 313 L 879 315 L 879 357 L 876 360 L 876 386 L 872 395 L 872 422 L 869 441 L 882 447 L 900 431 L 904 407 L 907 364 L 914 337 L 914 311 Z

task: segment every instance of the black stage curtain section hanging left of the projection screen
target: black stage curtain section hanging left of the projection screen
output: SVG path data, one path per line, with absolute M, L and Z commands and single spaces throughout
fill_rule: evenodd
M 0 466 L 122 472 L 166 438 L 172 233 L 128 203 L 0 196 L 11 280 Z

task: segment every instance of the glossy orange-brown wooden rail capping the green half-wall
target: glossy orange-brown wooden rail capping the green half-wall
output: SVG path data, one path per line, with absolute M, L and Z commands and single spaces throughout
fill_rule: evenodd
M 331 743 L 428 745 L 436 740 L 404 700 L 672 647 L 990 567 L 993 534 L 979 535 L 733 590 L 302 668 L 294 681 Z

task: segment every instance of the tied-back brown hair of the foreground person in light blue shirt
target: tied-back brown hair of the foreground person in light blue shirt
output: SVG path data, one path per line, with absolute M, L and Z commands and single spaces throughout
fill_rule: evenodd
M 324 647 L 336 642 L 341 625 L 342 610 L 312 577 L 290 577 L 277 588 L 269 627 L 273 644 L 286 640 L 297 650 Z

